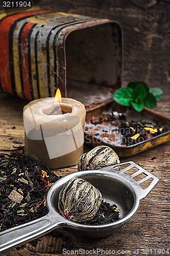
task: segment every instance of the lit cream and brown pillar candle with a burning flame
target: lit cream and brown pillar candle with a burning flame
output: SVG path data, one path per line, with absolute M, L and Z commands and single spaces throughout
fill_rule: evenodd
M 83 154 L 85 106 L 71 98 L 43 98 L 23 108 L 25 155 L 55 169 Z

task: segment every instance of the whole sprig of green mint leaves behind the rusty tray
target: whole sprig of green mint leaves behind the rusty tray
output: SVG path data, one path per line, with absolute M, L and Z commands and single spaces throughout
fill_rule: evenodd
M 122 105 L 130 106 L 141 111 L 144 106 L 148 109 L 156 107 L 157 101 L 163 97 L 163 91 L 159 88 L 149 89 L 143 81 L 129 82 L 127 88 L 118 89 L 113 99 Z

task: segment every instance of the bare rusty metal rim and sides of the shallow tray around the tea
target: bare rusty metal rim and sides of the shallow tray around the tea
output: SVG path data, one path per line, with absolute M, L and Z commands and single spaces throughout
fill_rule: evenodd
M 118 106 L 118 105 L 115 104 L 115 106 Z M 116 133 L 114 135 L 115 135 L 115 141 L 116 140 L 118 141 L 117 144 L 116 143 L 112 144 L 111 142 L 108 143 L 108 140 L 107 140 L 107 142 L 104 140 L 100 140 L 97 136 L 98 133 L 96 132 L 96 130 L 94 130 L 95 126 L 96 126 L 95 124 L 91 125 L 91 127 L 93 129 L 92 131 L 94 131 L 94 132 L 91 131 L 90 132 L 91 134 L 89 134 L 86 131 L 86 127 L 89 127 L 87 125 L 87 123 L 90 123 L 91 120 L 95 121 L 95 120 L 99 120 L 99 118 L 103 118 L 103 119 L 107 118 L 108 115 L 103 114 L 103 111 L 105 108 L 106 108 L 106 106 L 101 106 L 98 109 L 87 112 L 86 124 L 85 124 L 85 142 L 91 144 L 92 146 L 107 145 L 107 146 L 110 146 L 111 148 L 113 148 L 113 150 L 118 154 L 119 157 L 129 157 L 129 156 L 139 154 L 143 151 L 147 151 L 150 148 L 153 148 L 155 146 L 158 146 L 158 145 L 170 140 L 170 131 L 169 131 L 170 130 L 170 118 L 160 115 L 159 113 L 156 113 L 147 108 L 144 108 L 143 111 L 141 111 L 141 112 L 134 112 L 133 110 L 129 111 L 129 112 L 126 111 L 124 113 L 124 115 L 127 118 L 126 120 L 130 121 L 132 119 L 135 120 L 135 118 L 136 118 L 138 120 L 140 119 L 140 120 L 147 121 L 147 122 L 148 121 L 154 122 L 155 124 L 160 124 L 162 127 L 167 126 L 168 127 L 167 132 L 164 132 L 163 134 L 155 136 L 151 139 L 143 140 L 143 141 L 138 142 L 133 145 L 124 145 L 121 143 L 121 141 L 119 143 L 120 135 L 119 134 L 116 135 Z M 121 108 L 121 106 L 120 106 L 120 108 Z M 117 111 L 119 113 L 121 113 L 120 109 L 117 109 Z M 134 115 L 134 113 L 136 116 Z M 101 125 L 101 129 L 104 129 L 104 126 L 102 127 L 102 125 Z M 104 134 L 105 134 L 105 132 L 103 130 L 103 135 Z

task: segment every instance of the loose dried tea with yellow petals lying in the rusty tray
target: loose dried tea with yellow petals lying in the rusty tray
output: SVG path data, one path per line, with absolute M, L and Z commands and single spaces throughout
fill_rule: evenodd
M 94 120 L 85 122 L 85 133 L 95 137 L 99 143 L 105 142 L 115 146 L 133 145 L 169 131 L 169 127 L 154 122 L 127 122 L 123 114 L 119 116 L 119 121 L 114 116 L 95 117 Z

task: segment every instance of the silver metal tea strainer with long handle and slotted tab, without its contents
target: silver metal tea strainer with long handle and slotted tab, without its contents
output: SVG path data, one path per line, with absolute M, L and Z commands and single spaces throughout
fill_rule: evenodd
M 128 167 L 117 171 L 114 166 L 129 164 Z M 127 175 L 125 172 L 136 167 L 137 172 Z M 135 176 L 145 174 L 139 181 L 134 180 Z M 120 219 L 103 225 L 85 225 L 72 222 L 62 217 L 58 212 L 58 198 L 61 188 L 71 178 L 82 178 L 98 188 L 104 200 L 115 203 L 120 212 Z M 151 184 L 142 189 L 140 183 L 152 178 Z M 46 197 L 48 214 L 42 218 L 5 230 L 0 233 L 0 252 L 6 252 L 21 244 L 25 244 L 57 227 L 67 227 L 70 231 L 76 232 L 79 236 L 101 238 L 109 236 L 117 231 L 137 212 L 141 199 L 147 197 L 157 185 L 159 179 L 147 170 L 134 162 L 125 162 L 117 165 L 110 165 L 98 170 L 85 170 L 69 174 L 59 179 L 49 190 Z

